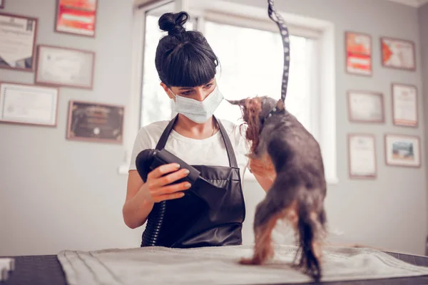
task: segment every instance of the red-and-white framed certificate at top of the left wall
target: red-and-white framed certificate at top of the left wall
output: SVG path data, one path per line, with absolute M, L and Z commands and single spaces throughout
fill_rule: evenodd
M 57 0 L 55 31 L 95 37 L 98 0 Z

